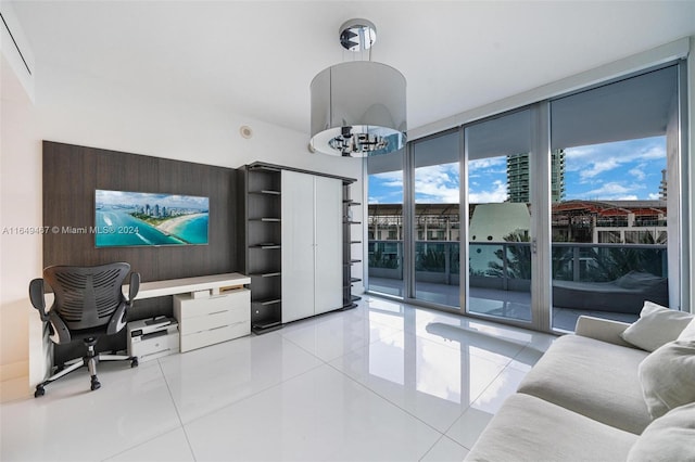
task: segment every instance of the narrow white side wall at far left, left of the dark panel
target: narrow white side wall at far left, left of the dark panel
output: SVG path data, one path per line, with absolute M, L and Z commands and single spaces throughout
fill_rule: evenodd
M 41 163 L 34 107 L 0 56 L 0 399 L 26 394 L 29 280 L 41 274 Z

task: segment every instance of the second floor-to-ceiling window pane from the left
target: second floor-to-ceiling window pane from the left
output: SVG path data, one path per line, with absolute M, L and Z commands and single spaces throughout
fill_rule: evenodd
M 458 130 L 413 143 L 415 298 L 460 306 Z

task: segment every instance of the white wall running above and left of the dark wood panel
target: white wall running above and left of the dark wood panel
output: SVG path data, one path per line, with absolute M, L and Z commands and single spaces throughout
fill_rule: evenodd
M 34 104 L 26 95 L 17 104 L 5 104 L 3 97 L 2 227 L 41 224 L 41 140 L 231 168 L 264 161 L 361 176 L 358 159 L 311 154 L 306 133 L 216 107 L 136 95 L 112 82 L 60 67 L 41 67 L 41 63 L 35 77 Z M 3 75 L 3 87 L 11 80 Z M 242 125 L 253 129 L 251 139 L 240 136 Z M 27 328 L 38 319 L 27 287 L 41 274 L 41 252 L 38 235 L 2 235 L 0 365 L 3 371 L 12 370 L 25 395 L 29 383 L 41 380 L 45 368 L 41 351 L 29 355 L 28 347 L 29 343 L 33 348 L 40 347 L 40 332 L 36 325 Z M 29 357 L 33 364 L 27 363 Z M 7 385 L 3 382 L 3 387 Z

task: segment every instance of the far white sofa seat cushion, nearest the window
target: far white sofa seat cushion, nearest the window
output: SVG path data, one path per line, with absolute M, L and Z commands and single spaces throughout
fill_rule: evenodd
M 519 392 L 640 434 L 652 422 L 637 376 L 646 351 L 579 335 L 556 339 Z

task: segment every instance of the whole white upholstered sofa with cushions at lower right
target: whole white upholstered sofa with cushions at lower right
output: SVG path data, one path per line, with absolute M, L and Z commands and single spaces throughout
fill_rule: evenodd
M 634 324 L 580 317 L 466 460 L 695 461 L 693 318 L 649 303 Z

